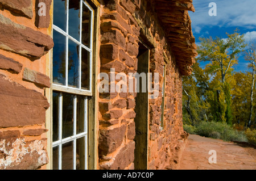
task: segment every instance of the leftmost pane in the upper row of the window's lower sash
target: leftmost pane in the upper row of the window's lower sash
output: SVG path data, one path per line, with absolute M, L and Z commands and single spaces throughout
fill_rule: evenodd
M 57 92 L 52 93 L 52 114 L 53 114 L 53 141 L 59 140 L 59 94 Z

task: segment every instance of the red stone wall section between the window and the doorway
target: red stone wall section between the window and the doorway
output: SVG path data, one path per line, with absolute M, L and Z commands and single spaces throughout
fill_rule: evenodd
M 140 28 L 133 12 L 138 6 L 126 0 L 106 2 L 100 26 L 100 70 L 110 73 L 110 68 L 115 68 L 115 75 L 134 73 L 137 70 Z M 100 93 L 100 169 L 134 169 L 134 108 L 133 93 Z

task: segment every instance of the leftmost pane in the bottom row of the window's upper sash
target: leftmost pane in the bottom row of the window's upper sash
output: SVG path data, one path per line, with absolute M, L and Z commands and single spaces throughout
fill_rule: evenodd
M 53 30 L 53 82 L 65 85 L 66 37 Z

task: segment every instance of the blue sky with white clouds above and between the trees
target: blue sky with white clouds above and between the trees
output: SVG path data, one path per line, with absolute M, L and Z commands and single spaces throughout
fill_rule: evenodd
M 210 16 L 209 3 L 217 5 L 217 16 Z M 256 41 L 256 0 L 193 0 L 195 12 L 189 11 L 192 32 L 199 44 L 199 37 L 226 38 L 226 32 L 233 33 L 236 28 L 245 39 Z M 202 63 L 200 63 L 202 64 Z M 203 66 L 204 64 L 202 64 Z M 240 55 L 235 71 L 247 71 L 247 62 Z

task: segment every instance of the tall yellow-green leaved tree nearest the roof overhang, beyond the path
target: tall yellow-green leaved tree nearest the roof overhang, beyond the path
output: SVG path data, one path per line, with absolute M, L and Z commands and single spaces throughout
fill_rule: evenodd
M 245 48 L 243 35 L 239 30 L 227 33 L 228 38 L 200 38 L 197 50 L 199 61 L 208 62 L 205 72 L 211 77 L 208 100 L 213 120 L 232 124 L 232 98 L 230 81 L 234 74 L 233 66 L 238 63 L 238 56 Z

